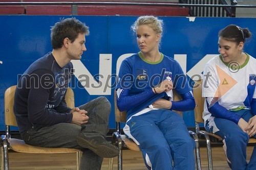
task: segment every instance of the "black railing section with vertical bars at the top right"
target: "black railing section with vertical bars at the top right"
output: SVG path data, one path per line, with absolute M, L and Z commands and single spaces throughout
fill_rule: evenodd
M 181 4 L 203 4 L 203 5 L 233 5 L 238 3 L 236 0 L 180 0 Z M 189 8 L 189 16 L 210 16 L 210 17 L 235 17 L 236 7 L 216 7 L 216 6 L 193 6 Z

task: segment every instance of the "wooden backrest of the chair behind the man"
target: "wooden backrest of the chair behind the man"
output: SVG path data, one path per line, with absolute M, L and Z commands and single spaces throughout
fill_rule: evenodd
M 15 90 L 16 90 L 16 86 L 11 86 L 5 91 L 5 125 L 6 126 L 17 126 L 16 118 L 13 112 Z M 74 92 L 70 87 L 67 89 L 67 93 L 65 95 L 65 101 L 68 107 L 74 108 L 75 106 Z

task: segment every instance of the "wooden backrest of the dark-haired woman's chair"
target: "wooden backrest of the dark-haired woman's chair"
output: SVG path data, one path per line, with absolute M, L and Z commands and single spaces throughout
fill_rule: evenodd
M 204 123 L 202 118 L 204 111 L 204 98 L 202 97 L 202 79 L 195 82 L 193 86 L 193 94 L 196 102 L 196 107 L 194 109 L 195 120 L 197 123 Z

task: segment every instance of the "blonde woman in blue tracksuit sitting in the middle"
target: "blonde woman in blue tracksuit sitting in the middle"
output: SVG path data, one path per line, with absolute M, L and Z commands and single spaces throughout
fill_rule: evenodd
M 134 22 L 140 52 L 121 64 L 117 106 L 127 110 L 123 131 L 139 145 L 148 169 L 194 170 L 195 141 L 172 110 L 193 110 L 195 101 L 179 63 L 159 52 L 162 25 L 154 16 Z M 182 101 L 173 102 L 173 88 Z

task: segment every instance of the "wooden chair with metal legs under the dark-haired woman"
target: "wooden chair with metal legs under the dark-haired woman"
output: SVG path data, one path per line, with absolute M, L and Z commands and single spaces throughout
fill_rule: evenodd
M 204 136 L 206 139 L 206 147 L 207 147 L 207 156 L 208 156 L 208 168 L 210 170 L 214 169 L 212 166 L 212 155 L 211 155 L 211 140 L 215 142 L 222 142 L 222 138 L 219 135 L 214 133 L 209 133 L 207 131 L 202 131 L 199 128 L 199 123 L 204 123 L 204 119 L 202 117 L 204 111 L 204 98 L 202 97 L 202 80 L 195 82 L 193 87 L 193 94 L 196 101 L 196 107 L 194 110 L 195 120 L 196 120 L 196 133 L 198 136 Z M 256 139 L 250 138 L 248 143 L 256 143 Z

